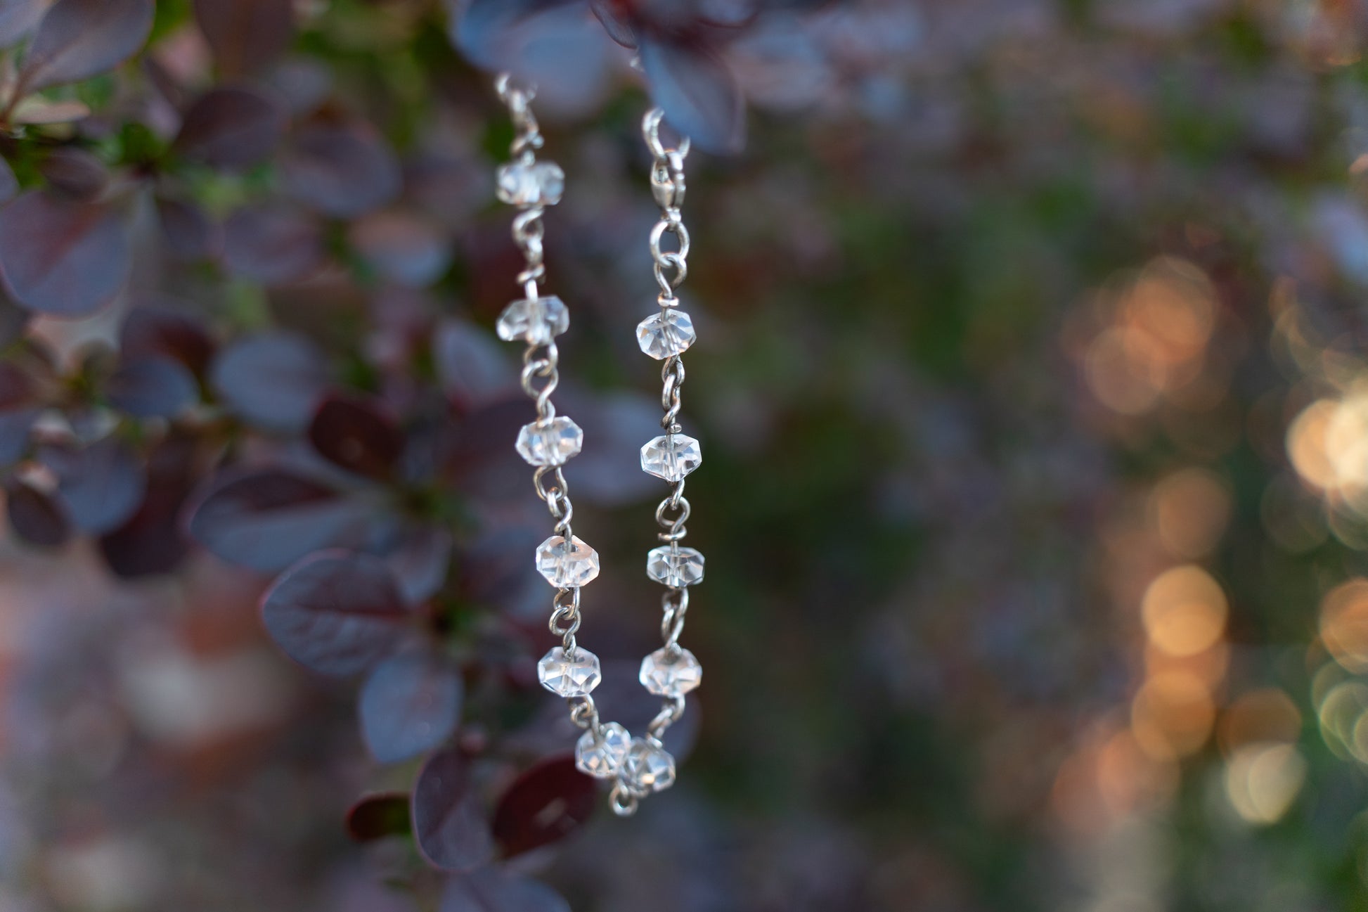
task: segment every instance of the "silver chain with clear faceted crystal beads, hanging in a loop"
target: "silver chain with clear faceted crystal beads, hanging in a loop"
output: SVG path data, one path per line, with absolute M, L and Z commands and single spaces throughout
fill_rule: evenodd
M 569 329 L 569 309 L 555 296 L 542 296 L 546 281 L 542 240 L 546 207 L 555 205 L 565 190 L 565 173 L 553 162 L 538 160 L 543 140 L 532 115 L 531 88 L 514 86 L 508 74 L 495 82 L 499 99 L 513 119 L 512 162 L 498 168 L 498 197 L 518 208 L 513 219 L 513 241 L 523 252 L 525 267 L 517 283 L 523 297 L 509 304 L 498 318 L 495 330 L 505 341 L 521 341 L 523 390 L 536 405 L 536 420 L 523 426 L 514 448 L 532 467 L 536 496 L 546 503 L 555 520 L 553 534 L 536 548 L 536 570 L 555 587 L 549 626 L 561 638 L 538 663 L 538 679 L 551 693 L 566 700 L 570 719 L 583 729 L 575 745 L 576 767 L 598 779 L 613 781 L 609 804 L 620 816 L 636 812 L 646 796 L 674 783 L 674 757 L 661 744 L 665 730 L 684 712 L 685 694 L 702 681 L 702 667 L 688 649 L 679 645 L 688 611 L 688 586 L 703 578 L 703 556 L 680 546 L 689 503 L 684 497 L 684 477 L 702 461 L 699 444 L 681 433 L 679 425 L 680 388 L 684 363 L 680 355 L 694 342 L 694 323 L 679 309 L 676 289 L 688 274 L 688 230 L 680 215 L 684 201 L 684 156 L 688 140 L 680 148 L 665 148 L 659 137 L 662 112 L 653 110 L 643 121 L 643 134 L 654 157 L 651 192 L 661 207 L 661 220 L 651 231 L 650 249 L 655 279 L 661 286 L 659 312 L 636 327 L 642 351 L 663 362 L 661 405 L 665 433 L 642 448 L 642 470 L 665 479 L 673 487 L 661 501 L 655 519 L 662 546 L 647 553 L 646 572 L 666 586 L 662 597 L 661 635 L 665 645 L 642 660 L 640 682 L 650 693 L 662 697 L 663 705 L 647 726 L 646 734 L 633 737 L 616 722 L 602 722 L 591 692 L 602 681 L 598 656 L 576 642 L 580 629 L 580 587 L 599 574 L 598 552 L 575 535 L 570 520 L 569 486 L 564 466 L 584 445 L 584 433 L 566 416 L 555 414 L 551 393 L 560 382 L 560 352 L 555 337 Z M 673 234 L 676 251 L 663 251 L 665 234 Z

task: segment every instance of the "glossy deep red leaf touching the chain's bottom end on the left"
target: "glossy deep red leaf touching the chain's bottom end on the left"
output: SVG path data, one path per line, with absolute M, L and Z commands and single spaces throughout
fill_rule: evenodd
M 598 786 L 575 768 L 575 757 L 551 757 L 514 779 L 499 798 L 494 838 L 505 857 L 531 852 L 568 835 L 596 805 Z

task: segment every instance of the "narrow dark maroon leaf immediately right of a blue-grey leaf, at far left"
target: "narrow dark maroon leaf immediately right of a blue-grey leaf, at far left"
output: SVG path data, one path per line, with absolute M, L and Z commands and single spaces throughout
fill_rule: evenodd
M 172 435 L 148 456 L 148 493 L 133 516 L 100 537 L 104 561 L 126 579 L 166 574 L 189 552 L 181 509 L 193 486 L 196 445 Z

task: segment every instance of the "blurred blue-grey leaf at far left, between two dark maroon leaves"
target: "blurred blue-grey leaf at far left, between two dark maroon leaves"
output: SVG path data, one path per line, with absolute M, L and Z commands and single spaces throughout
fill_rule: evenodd
M 38 459 L 57 477 L 57 498 L 83 533 L 118 529 L 142 503 L 148 479 L 138 457 L 114 437 L 86 446 L 44 446 Z

